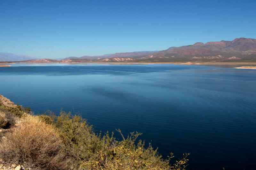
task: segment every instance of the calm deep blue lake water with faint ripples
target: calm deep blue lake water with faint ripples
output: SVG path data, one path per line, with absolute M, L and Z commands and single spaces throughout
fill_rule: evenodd
M 142 132 L 164 157 L 190 152 L 189 169 L 256 169 L 256 70 L 14 64 L 0 67 L 0 94 L 36 114 L 80 113 L 97 132 Z

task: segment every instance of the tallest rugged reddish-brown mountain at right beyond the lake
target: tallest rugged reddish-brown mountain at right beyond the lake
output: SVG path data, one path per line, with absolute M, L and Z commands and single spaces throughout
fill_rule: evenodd
M 197 42 L 193 45 L 171 47 L 153 54 L 154 58 L 170 61 L 255 60 L 256 39 L 237 38 L 233 41 Z

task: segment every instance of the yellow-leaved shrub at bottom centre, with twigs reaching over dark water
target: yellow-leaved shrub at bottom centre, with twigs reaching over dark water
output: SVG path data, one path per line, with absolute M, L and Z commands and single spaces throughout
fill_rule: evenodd
M 121 131 L 118 130 L 120 133 Z M 122 135 L 122 133 L 121 133 Z M 151 144 L 145 148 L 145 142 L 136 139 L 141 134 L 131 133 L 127 138 L 118 142 L 105 142 L 99 152 L 95 152 L 93 156 L 80 164 L 81 169 L 104 169 L 104 170 L 181 170 L 185 169 L 188 163 L 187 156 L 177 160 L 173 165 L 170 164 L 171 155 L 168 160 L 162 159 L 154 150 Z M 102 138 L 103 141 L 108 138 L 108 135 Z M 108 138 L 110 139 L 110 138 Z M 113 139 L 113 138 L 112 138 Z M 181 168 L 182 167 L 182 168 Z

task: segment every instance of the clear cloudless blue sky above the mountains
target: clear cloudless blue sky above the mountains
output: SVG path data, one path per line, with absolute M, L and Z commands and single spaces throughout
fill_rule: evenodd
M 256 38 L 255 0 L 0 1 L 0 52 L 34 57 Z

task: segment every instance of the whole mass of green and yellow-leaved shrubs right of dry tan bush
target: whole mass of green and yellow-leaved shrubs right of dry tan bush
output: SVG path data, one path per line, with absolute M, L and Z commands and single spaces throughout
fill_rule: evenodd
M 60 132 L 68 155 L 79 169 L 163 169 L 181 170 L 187 166 L 187 154 L 173 165 L 170 159 L 164 160 L 158 155 L 157 149 L 145 147 L 145 142 L 137 141 L 141 135 L 131 133 L 127 138 L 117 141 L 114 133 L 97 135 L 93 132 L 86 120 L 81 116 L 72 116 L 70 113 L 60 112 L 60 116 L 53 116 L 53 125 Z M 78 167 L 79 166 L 79 167 Z

